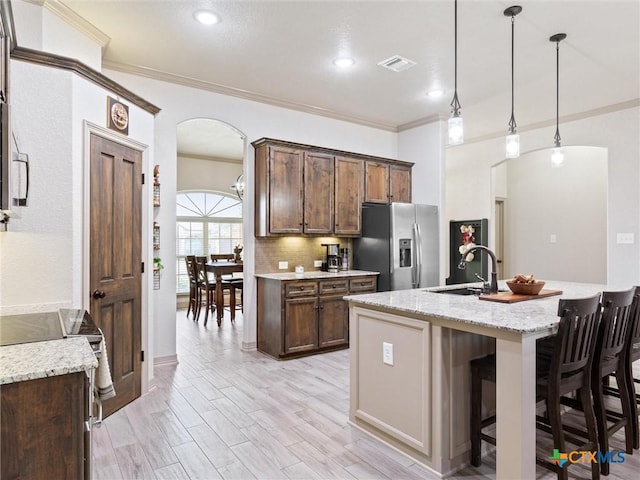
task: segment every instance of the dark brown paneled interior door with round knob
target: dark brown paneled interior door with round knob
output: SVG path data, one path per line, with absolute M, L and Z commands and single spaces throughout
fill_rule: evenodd
M 107 416 L 140 396 L 142 154 L 92 134 L 90 162 L 90 310 L 116 390 Z

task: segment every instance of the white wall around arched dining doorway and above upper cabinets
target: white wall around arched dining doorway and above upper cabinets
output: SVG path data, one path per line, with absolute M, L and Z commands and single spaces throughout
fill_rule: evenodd
M 156 116 L 155 159 L 162 175 L 162 204 L 175 204 L 177 161 L 176 125 L 192 118 L 211 118 L 235 127 L 247 138 L 244 158 L 244 176 L 247 185 L 244 208 L 245 309 L 243 348 L 256 346 L 256 289 L 253 277 L 254 225 L 253 183 L 254 149 L 250 142 L 262 137 L 288 140 L 330 147 L 356 153 L 396 157 L 396 138 L 393 132 L 287 110 L 251 102 L 208 91 L 173 85 L 122 72 L 105 72 L 116 82 L 137 92 L 146 100 L 162 108 Z M 159 209 L 157 219 L 161 225 L 175 224 L 175 209 Z M 161 230 L 162 258 L 175 254 L 174 229 Z M 175 341 L 175 266 L 165 262 L 161 290 L 154 296 L 155 356 L 170 357 L 176 353 Z M 217 327 L 216 327 L 217 328 Z M 222 328 L 225 328 L 223 326 Z

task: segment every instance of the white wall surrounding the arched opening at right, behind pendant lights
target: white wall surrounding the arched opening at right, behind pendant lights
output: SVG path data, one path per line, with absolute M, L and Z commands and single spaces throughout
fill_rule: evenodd
M 564 145 L 608 149 L 607 282 L 620 288 L 639 284 L 640 108 L 561 123 L 560 130 Z M 553 131 L 550 126 L 520 132 L 522 152 L 550 147 Z M 491 166 L 502 160 L 503 137 L 447 149 L 447 219 L 493 217 Z M 635 243 L 617 244 L 617 233 L 633 233 Z M 442 252 L 442 261 L 446 261 L 447 255 L 448 252 Z

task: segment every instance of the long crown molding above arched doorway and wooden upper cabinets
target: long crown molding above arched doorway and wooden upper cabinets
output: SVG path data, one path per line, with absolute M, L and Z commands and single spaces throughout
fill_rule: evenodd
M 334 120 L 342 120 L 349 123 L 355 123 L 358 125 L 364 125 L 366 127 L 376 128 L 378 130 L 386 130 L 389 132 L 397 132 L 398 128 L 395 125 L 388 123 L 376 122 L 362 117 L 355 117 L 351 115 L 340 114 L 332 110 L 317 107 L 314 105 L 306 105 L 295 102 L 288 102 L 286 100 L 280 100 L 268 95 L 262 95 L 259 93 L 251 92 L 249 90 L 243 90 L 240 88 L 229 87 L 227 85 L 221 85 L 213 82 L 206 82 L 195 78 L 185 77 L 183 75 L 176 75 L 173 73 L 163 72 L 153 68 L 143 67 L 139 65 L 129 65 L 118 62 L 111 62 L 104 60 L 102 62 L 102 68 L 108 70 L 115 70 L 122 73 L 128 73 L 131 75 L 137 75 L 141 77 L 151 78 L 154 80 L 160 80 L 163 82 L 173 83 L 176 85 L 183 85 L 186 87 L 196 88 L 198 90 L 206 90 L 209 92 L 219 93 L 222 95 L 228 95 L 232 97 L 242 98 L 244 100 L 250 100 L 253 102 L 265 103 L 275 107 L 286 108 L 288 110 L 296 110 L 299 112 L 310 113 L 312 115 L 319 115 L 322 117 L 332 118 Z

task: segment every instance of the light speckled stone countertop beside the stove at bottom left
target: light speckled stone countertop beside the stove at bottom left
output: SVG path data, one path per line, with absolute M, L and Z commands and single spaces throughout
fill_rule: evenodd
M 97 367 L 98 360 L 84 337 L 0 347 L 0 385 Z

